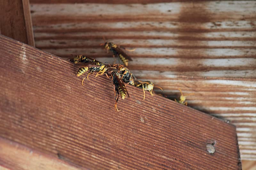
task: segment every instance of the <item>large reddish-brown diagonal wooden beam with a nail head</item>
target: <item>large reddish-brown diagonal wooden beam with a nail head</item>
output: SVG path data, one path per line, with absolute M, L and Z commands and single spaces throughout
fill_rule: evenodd
M 81 85 L 66 60 L 0 36 L 0 137 L 88 169 L 240 169 L 236 128 L 104 76 Z M 215 141 L 215 153 L 206 145 Z

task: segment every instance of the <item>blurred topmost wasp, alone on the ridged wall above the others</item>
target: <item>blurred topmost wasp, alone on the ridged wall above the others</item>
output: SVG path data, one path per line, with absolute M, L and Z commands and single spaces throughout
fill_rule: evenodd
M 103 39 L 104 39 L 104 41 L 106 41 L 104 37 L 103 37 Z M 103 45 L 103 44 L 101 44 L 101 45 Z M 124 63 L 125 66 L 128 66 L 128 61 L 132 61 L 132 58 L 130 56 L 128 56 L 120 48 L 120 46 L 116 45 L 113 42 L 106 41 L 105 44 L 104 44 L 104 48 L 107 49 L 107 52 L 108 52 L 108 50 L 111 51 L 114 54 L 113 56 L 119 57 L 121 59 L 121 61 Z M 128 50 L 124 47 L 122 47 L 122 48 L 125 49 L 126 51 L 134 51 L 135 50 L 135 49 Z

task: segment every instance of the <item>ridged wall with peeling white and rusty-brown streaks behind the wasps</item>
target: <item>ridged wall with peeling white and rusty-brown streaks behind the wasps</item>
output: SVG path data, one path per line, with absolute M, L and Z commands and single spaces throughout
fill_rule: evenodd
M 241 158 L 256 160 L 255 1 L 74 2 L 30 0 L 37 48 L 109 63 L 102 36 L 136 48 L 127 53 L 137 78 L 171 99 L 194 92 L 189 106 L 234 123 Z

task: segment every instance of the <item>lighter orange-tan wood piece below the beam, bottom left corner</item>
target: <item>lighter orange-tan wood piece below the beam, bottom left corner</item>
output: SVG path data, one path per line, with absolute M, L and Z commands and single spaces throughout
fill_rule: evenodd
M 0 137 L 0 169 L 70 169 L 78 167 L 68 165 L 66 162 L 24 145 Z M 1 167 L 2 166 L 2 167 Z

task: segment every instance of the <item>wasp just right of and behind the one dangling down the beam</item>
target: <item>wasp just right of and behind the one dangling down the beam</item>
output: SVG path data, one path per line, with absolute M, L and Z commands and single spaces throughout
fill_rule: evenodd
M 125 83 L 128 83 L 129 85 L 133 85 L 135 86 L 135 77 L 134 75 L 130 72 L 130 70 L 125 67 L 124 65 L 120 65 L 120 64 L 116 64 L 113 65 L 113 67 L 116 68 L 116 70 L 118 70 L 118 72 L 122 75 L 122 80 Z

